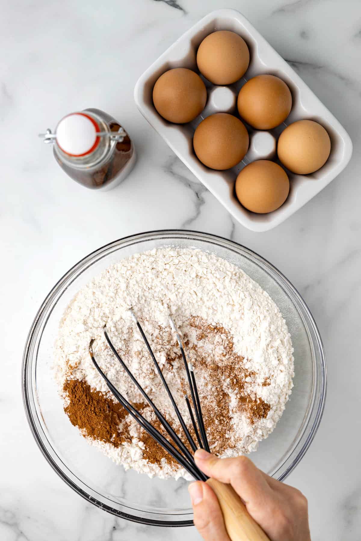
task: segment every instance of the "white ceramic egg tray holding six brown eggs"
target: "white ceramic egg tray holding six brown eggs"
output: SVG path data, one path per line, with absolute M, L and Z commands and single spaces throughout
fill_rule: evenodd
M 245 39 L 250 49 L 250 66 L 240 81 L 228 87 L 216 87 L 204 80 L 208 92 L 204 111 L 188 124 L 171 124 L 154 108 L 152 98 L 154 84 L 163 72 L 172 68 L 183 67 L 199 72 L 196 51 L 202 39 L 215 30 L 232 30 Z M 213 113 L 224 111 L 238 115 L 236 98 L 239 89 L 251 77 L 264 73 L 277 75 L 290 88 L 293 100 L 290 115 L 281 126 L 270 131 L 255 131 L 246 124 L 250 133 L 250 148 L 244 160 L 226 171 L 208 169 L 194 154 L 195 128 L 205 117 Z M 134 89 L 134 99 L 142 115 L 182 162 L 239 223 L 253 231 L 267 231 L 286 220 L 327 186 L 346 167 L 351 158 L 350 136 L 338 120 L 252 24 L 233 9 L 213 11 L 177 39 L 139 78 Z M 248 211 L 241 206 L 234 192 L 234 183 L 239 171 L 254 160 L 275 159 L 276 141 L 281 131 L 288 124 L 301 118 L 317 121 L 326 128 L 331 138 L 329 159 L 321 169 L 310 175 L 296 175 L 287 171 L 291 184 L 290 194 L 279 209 L 269 214 Z

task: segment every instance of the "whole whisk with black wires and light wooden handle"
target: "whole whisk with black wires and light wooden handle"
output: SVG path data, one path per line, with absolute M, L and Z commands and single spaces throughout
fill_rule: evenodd
M 187 404 L 189 417 L 191 418 L 191 421 L 192 421 L 193 431 L 194 431 L 198 446 L 195 444 L 195 441 L 188 430 L 188 427 L 179 411 L 179 408 L 177 404 L 175 403 L 172 392 L 170 391 L 167 381 L 165 377 L 163 376 L 162 370 L 155 358 L 155 355 L 152 351 L 152 348 L 150 347 L 149 341 L 140 325 L 140 322 L 137 320 L 133 311 L 130 311 L 130 314 L 132 315 L 132 318 L 137 328 L 139 329 L 141 337 L 147 346 L 150 357 L 152 358 L 156 371 L 159 374 L 162 384 L 167 391 L 169 399 L 176 413 L 176 417 L 179 420 L 179 423 L 182 427 L 182 431 L 188 441 L 189 446 L 191 447 L 193 452 L 195 452 L 197 448 L 204 448 L 206 451 L 209 452 L 207 433 L 206 433 L 206 428 L 205 428 L 204 419 L 202 415 L 202 408 L 200 404 L 199 393 L 198 393 L 198 388 L 196 385 L 193 366 L 190 362 L 187 361 L 185 350 L 182 344 L 182 340 L 181 340 L 178 330 L 176 329 L 173 319 L 169 318 L 169 324 L 173 332 L 175 333 L 176 339 L 178 341 L 178 345 L 179 345 L 182 359 L 183 359 L 183 364 L 186 370 L 189 391 L 191 393 L 192 405 L 187 395 L 185 396 L 185 401 Z M 159 420 L 160 424 L 163 426 L 164 430 L 168 434 L 171 441 L 169 441 L 169 439 L 163 436 L 163 434 L 161 434 L 159 430 L 157 430 L 151 423 L 149 423 L 149 421 L 145 417 L 143 417 L 143 415 L 138 410 L 136 410 L 136 408 L 132 404 L 130 404 L 130 402 L 111 383 L 111 381 L 108 379 L 106 374 L 104 374 L 104 372 L 101 370 L 100 366 L 97 364 L 94 358 L 94 353 L 93 353 L 94 340 L 91 340 L 89 344 L 90 358 L 93 361 L 93 364 L 96 370 L 100 373 L 104 381 L 106 381 L 106 384 L 109 390 L 111 391 L 111 393 L 113 393 L 114 397 L 127 410 L 127 412 L 137 421 L 137 423 L 139 423 L 139 425 L 143 428 L 143 430 L 145 430 L 149 434 L 149 436 L 152 436 L 152 438 L 154 438 L 154 440 L 159 445 L 161 445 L 170 454 L 170 456 L 172 456 L 176 461 L 178 461 L 178 463 L 189 474 L 191 474 L 191 476 L 194 479 L 200 480 L 200 481 L 206 481 L 206 483 L 212 487 L 213 491 L 216 494 L 216 497 L 218 498 L 218 501 L 219 501 L 219 504 L 224 516 L 228 536 L 231 538 L 232 541 L 269 541 L 265 532 L 261 529 L 261 527 L 253 520 L 253 518 L 247 512 L 244 503 L 242 503 L 238 494 L 235 493 L 231 485 L 226 485 L 216 479 L 208 478 L 195 464 L 192 452 L 189 450 L 187 445 L 182 441 L 182 439 L 178 436 L 178 434 L 174 431 L 174 429 L 168 423 L 164 415 L 162 415 L 162 413 L 156 407 L 153 400 L 149 397 L 149 395 L 140 385 L 139 381 L 136 380 L 132 372 L 129 370 L 128 366 L 125 364 L 125 362 L 121 358 L 120 354 L 116 351 L 113 343 L 111 342 L 109 338 L 106 327 L 104 327 L 103 332 L 104 332 L 104 337 L 106 338 L 106 341 L 108 342 L 108 345 L 111 351 L 114 353 L 117 360 L 119 360 L 120 364 L 122 365 L 123 369 L 128 374 L 129 378 L 133 381 L 133 383 L 138 388 L 140 393 L 146 399 L 147 403 L 154 411 L 156 418 Z M 192 410 L 192 406 L 193 406 L 194 413 Z

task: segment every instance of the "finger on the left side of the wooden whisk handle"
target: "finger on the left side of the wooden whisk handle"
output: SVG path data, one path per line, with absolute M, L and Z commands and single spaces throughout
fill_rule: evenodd
M 231 541 L 226 532 L 222 511 L 213 490 L 196 481 L 188 487 L 193 506 L 193 522 L 205 541 Z

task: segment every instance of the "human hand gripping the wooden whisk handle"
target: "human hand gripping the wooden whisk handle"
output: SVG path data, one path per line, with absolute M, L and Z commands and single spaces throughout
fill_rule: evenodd
M 299 490 L 266 475 L 247 457 L 221 459 L 198 450 L 194 459 L 207 476 L 232 485 L 271 541 L 311 541 L 307 499 Z M 189 493 L 194 525 L 205 541 L 230 541 L 211 487 L 196 481 Z

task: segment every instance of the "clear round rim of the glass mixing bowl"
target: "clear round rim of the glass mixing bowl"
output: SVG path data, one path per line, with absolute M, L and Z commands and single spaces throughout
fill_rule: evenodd
M 142 233 L 136 233 L 133 235 L 127 235 L 124 237 L 120 237 L 119 239 L 116 239 L 114 241 L 108 242 L 105 245 L 101 246 L 100 248 L 97 248 L 93 250 L 93 252 L 90 252 L 86 256 L 84 256 L 82 259 L 80 259 L 73 267 L 71 267 L 67 272 L 63 274 L 63 276 L 55 283 L 55 285 L 51 288 L 50 292 L 47 294 L 45 299 L 43 300 L 40 308 L 38 309 L 36 316 L 34 320 L 32 321 L 30 331 L 28 333 L 27 340 L 25 342 L 24 347 L 24 353 L 23 353 L 23 359 L 22 359 L 22 397 L 23 397 L 23 405 L 25 408 L 25 414 L 27 416 L 28 424 L 32 433 L 32 436 L 34 437 L 38 447 L 40 448 L 43 456 L 47 460 L 48 464 L 52 467 L 52 469 L 58 474 L 58 476 L 61 477 L 65 483 L 71 487 L 77 494 L 82 496 L 84 499 L 86 499 L 88 502 L 90 501 L 100 509 L 103 509 L 104 511 L 107 511 L 111 514 L 114 514 L 117 517 L 122 517 L 126 520 L 129 520 L 130 522 L 140 523 L 140 524 L 147 524 L 152 526 L 163 526 L 163 527 L 179 527 L 179 526 L 192 526 L 193 520 L 172 520 L 172 521 L 163 521 L 159 519 L 152 519 L 152 518 L 144 518 L 144 517 L 137 517 L 133 514 L 126 513 L 124 511 L 119 511 L 117 509 L 114 509 L 114 507 L 108 506 L 106 504 L 103 504 L 96 500 L 93 497 L 90 497 L 89 494 L 87 494 L 81 487 L 77 486 L 71 479 L 67 477 L 67 475 L 58 467 L 58 465 L 55 463 L 55 461 L 50 456 L 47 448 L 43 444 L 42 439 L 39 437 L 38 430 L 33 418 L 33 414 L 30 407 L 30 397 L 28 393 L 27 388 L 27 377 L 28 377 L 28 370 L 29 370 L 29 351 L 30 351 L 30 345 L 32 342 L 32 339 L 34 337 L 35 331 L 38 326 L 38 322 L 41 318 L 41 315 L 43 314 L 44 309 L 47 307 L 48 302 L 51 300 L 52 296 L 57 292 L 58 288 L 61 287 L 63 282 L 67 280 L 68 276 L 71 275 L 71 273 L 79 266 L 81 266 L 82 263 L 84 263 L 87 260 L 91 260 L 95 254 L 101 253 L 107 248 L 109 248 L 112 245 L 116 245 L 119 242 L 124 242 L 127 240 L 134 240 L 134 241 L 140 241 L 140 240 L 147 240 L 147 237 L 154 236 L 154 235 L 163 235 L 163 234 L 179 234 L 183 237 L 186 237 L 187 234 L 189 235 L 199 235 L 202 240 L 206 241 L 212 241 L 214 240 L 221 240 L 223 242 L 228 243 L 228 245 L 235 245 L 237 248 L 241 248 L 242 250 L 245 250 L 246 253 L 255 256 L 255 258 L 259 258 L 263 262 L 270 267 L 271 270 L 275 271 L 278 275 L 281 276 L 281 278 L 284 280 L 286 285 L 291 289 L 292 293 L 298 298 L 300 304 L 303 306 L 303 309 L 305 310 L 305 313 L 307 317 L 309 318 L 311 324 L 313 325 L 313 331 L 316 335 L 316 339 L 318 342 L 318 353 L 320 357 L 320 364 L 321 364 L 321 380 L 320 380 L 320 398 L 319 403 L 317 406 L 316 416 L 313 422 L 313 425 L 311 427 L 311 430 L 305 440 L 305 443 L 301 447 L 300 451 L 297 453 L 296 457 L 292 460 L 291 464 L 288 465 L 285 472 L 280 476 L 279 480 L 283 481 L 297 466 L 297 464 L 300 462 L 300 460 L 303 458 L 306 451 L 309 449 L 314 436 L 316 435 L 316 432 L 318 430 L 323 412 L 324 412 L 324 406 L 325 406 L 325 400 L 326 400 L 326 389 L 327 389 L 327 366 L 326 366 L 326 357 L 325 357 L 325 351 L 323 346 L 323 341 L 321 339 L 316 321 L 314 321 L 314 318 L 312 316 L 312 313 L 309 309 L 309 307 L 306 305 L 306 302 L 304 301 L 303 297 L 300 295 L 300 293 L 297 291 L 297 289 L 292 285 L 292 283 L 286 278 L 286 276 L 281 273 L 277 267 L 272 265 L 270 261 L 265 259 L 263 256 L 260 256 L 257 254 L 257 252 L 254 252 L 250 248 L 247 248 L 244 245 L 241 245 L 239 242 L 236 242 L 234 240 L 227 239 L 226 237 L 223 237 L 221 235 L 214 235 L 209 234 L 193 229 L 156 229 L 156 230 L 150 230 L 145 231 Z M 50 315 L 50 314 L 49 314 Z M 49 317 L 48 315 L 48 317 Z

